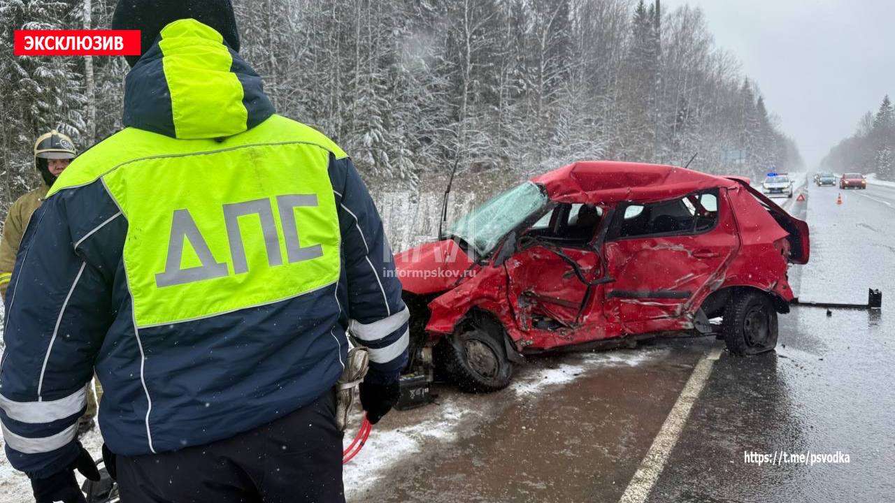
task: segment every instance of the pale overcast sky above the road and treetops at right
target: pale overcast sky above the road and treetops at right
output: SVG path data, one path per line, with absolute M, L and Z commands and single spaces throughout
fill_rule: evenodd
M 698 5 L 813 169 L 895 98 L 895 0 L 663 0 Z

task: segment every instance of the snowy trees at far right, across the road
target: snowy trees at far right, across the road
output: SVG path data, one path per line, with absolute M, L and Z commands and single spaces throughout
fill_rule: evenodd
M 834 173 L 875 173 L 877 178 L 895 181 L 895 112 L 889 95 L 882 98 L 875 114 L 861 117 L 854 135 L 830 150 L 821 168 Z

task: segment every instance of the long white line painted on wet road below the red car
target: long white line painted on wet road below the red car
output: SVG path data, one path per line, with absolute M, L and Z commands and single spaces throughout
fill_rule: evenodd
M 712 375 L 712 365 L 720 358 L 721 348 L 715 347 L 696 363 L 690 379 L 686 381 L 681 390 L 678 401 L 671 407 L 668 417 L 662 423 L 662 427 L 656 438 L 652 440 L 650 450 L 646 452 L 644 460 L 634 473 L 631 482 L 627 484 L 625 494 L 622 494 L 618 503 L 643 503 L 650 495 L 652 486 L 659 480 L 659 475 L 671 455 L 671 450 L 678 443 L 681 431 L 684 431 L 687 417 L 696 402 L 696 398 L 702 393 L 706 381 Z

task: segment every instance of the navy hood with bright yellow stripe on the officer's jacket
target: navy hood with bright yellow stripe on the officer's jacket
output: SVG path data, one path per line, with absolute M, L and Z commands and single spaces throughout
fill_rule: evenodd
M 258 73 L 193 19 L 168 24 L 124 84 L 124 125 L 172 138 L 232 136 L 273 113 Z

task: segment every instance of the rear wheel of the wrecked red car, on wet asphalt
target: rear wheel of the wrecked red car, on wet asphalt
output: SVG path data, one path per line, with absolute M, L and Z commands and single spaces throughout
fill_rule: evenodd
M 721 325 L 731 354 L 762 354 L 777 347 L 777 311 L 768 294 L 741 291 L 724 307 Z

